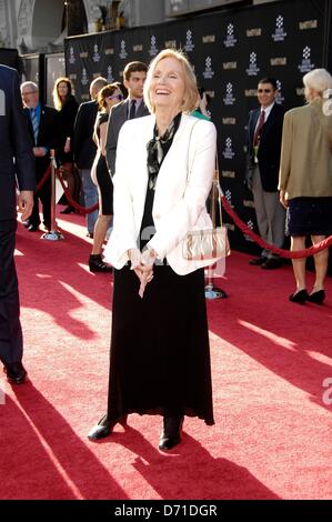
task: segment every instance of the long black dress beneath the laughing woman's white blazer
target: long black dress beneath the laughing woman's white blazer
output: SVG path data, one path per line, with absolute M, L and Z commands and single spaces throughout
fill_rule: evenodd
M 162 145 L 163 158 L 170 147 Z M 141 229 L 153 227 L 153 198 L 148 184 Z M 130 267 L 114 270 L 108 420 L 185 414 L 212 425 L 204 272 L 178 275 L 160 264 L 153 274 L 141 299 Z

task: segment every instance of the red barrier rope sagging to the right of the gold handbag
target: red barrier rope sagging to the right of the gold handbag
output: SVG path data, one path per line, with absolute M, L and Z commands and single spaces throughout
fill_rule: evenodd
M 314 244 L 313 247 L 304 250 L 296 250 L 296 251 L 289 251 L 284 249 L 278 249 L 273 244 L 266 243 L 260 235 L 254 233 L 241 219 L 239 215 L 234 212 L 228 200 L 225 199 L 222 189 L 220 184 L 218 185 L 219 189 L 219 194 L 221 198 L 222 205 L 225 210 L 225 212 L 232 218 L 237 227 L 247 235 L 249 235 L 255 243 L 258 243 L 262 249 L 268 249 L 271 252 L 281 255 L 284 259 L 303 259 L 303 258 L 309 258 L 310 255 L 315 255 L 322 250 L 328 249 L 329 247 L 332 245 L 332 235 L 329 238 L 324 239 L 320 243 Z

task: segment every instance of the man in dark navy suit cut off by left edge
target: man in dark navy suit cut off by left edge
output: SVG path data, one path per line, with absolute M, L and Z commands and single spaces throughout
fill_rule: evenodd
M 0 360 L 7 379 L 26 380 L 18 280 L 14 267 L 19 211 L 29 218 L 36 188 L 34 159 L 16 70 L 0 66 Z

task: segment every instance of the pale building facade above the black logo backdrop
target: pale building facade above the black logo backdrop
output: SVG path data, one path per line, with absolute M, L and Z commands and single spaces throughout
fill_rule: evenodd
M 0 47 L 54 52 L 66 36 L 161 23 L 204 9 L 275 0 L 0 0 Z

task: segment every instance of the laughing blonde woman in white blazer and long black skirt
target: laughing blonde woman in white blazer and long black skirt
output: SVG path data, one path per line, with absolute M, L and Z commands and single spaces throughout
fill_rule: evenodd
M 181 440 L 184 415 L 212 425 L 204 273 L 183 259 L 188 231 L 211 227 L 217 132 L 189 113 L 197 83 L 185 57 L 161 51 L 144 101 L 152 116 L 119 135 L 114 228 L 105 259 L 114 267 L 108 413 L 89 433 L 111 433 L 129 413 L 163 415 L 161 450 Z M 144 250 L 144 253 L 142 253 Z

